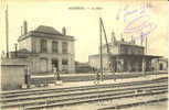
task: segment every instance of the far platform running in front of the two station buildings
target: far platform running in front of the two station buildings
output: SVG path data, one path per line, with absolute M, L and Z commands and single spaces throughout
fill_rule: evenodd
M 158 74 L 168 74 L 167 72 L 146 72 L 146 76 L 149 75 L 158 75 Z M 112 79 L 126 79 L 126 78 L 136 78 L 142 77 L 144 73 L 135 72 L 135 73 L 103 73 L 103 79 L 112 80 Z M 96 73 L 86 73 L 86 74 L 60 74 L 60 78 L 63 82 L 78 82 L 78 81 L 93 81 L 96 79 Z M 47 74 L 38 74 L 31 75 L 31 84 L 52 84 L 55 81 L 55 76 L 52 73 Z

